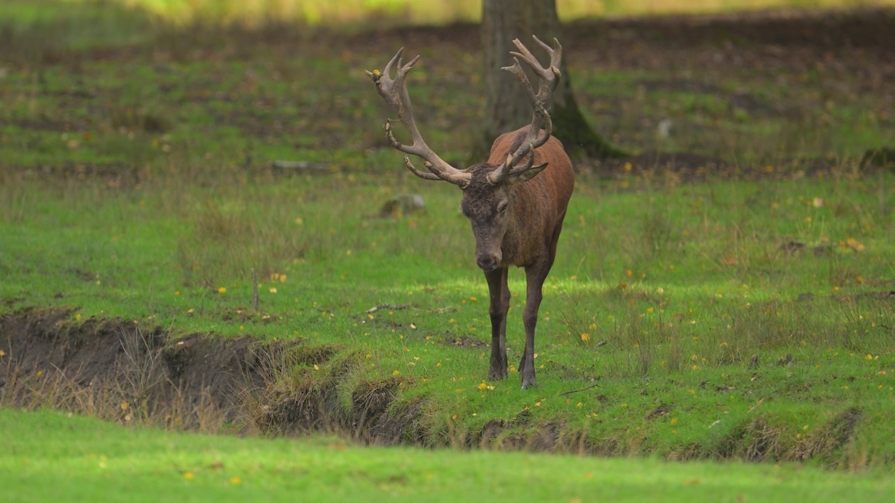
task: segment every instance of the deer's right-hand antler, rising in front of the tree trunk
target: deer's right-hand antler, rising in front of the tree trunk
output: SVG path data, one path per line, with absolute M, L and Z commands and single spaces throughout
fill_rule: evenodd
M 516 80 L 522 84 L 525 95 L 532 103 L 534 115 L 532 117 L 532 125 L 528 129 L 528 134 L 522 142 L 522 146 L 507 156 L 507 162 L 488 176 L 490 183 L 503 183 L 507 176 L 519 175 L 531 169 L 534 163 L 534 149 L 543 145 L 550 138 L 550 132 L 553 131 L 553 123 L 550 121 L 550 114 L 547 112 L 547 108 L 552 103 L 553 91 L 556 90 L 559 83 L 559 63 L 562 60 L 562 46 L 559 45 L 559 40 L 556 38 L 553 38 L 553 48 L 541 42 L 537 37 L 532 36 L 532 38 L 550 55 L 550 65 L 546 68 L 542 67 L 538 63 L 538 59 L 532 55 L 532 52 L 518 38 L 513 40 L 513 44 L 519 49 L 519 52 L 510 52 L 514 56 L 513 60 L 515 63 L 512 66 L 505 66 L 501 70 L 512 73 L 516 76 Z M 537 94 L 534 93 L 532 83 L 528 81 L 522 65 L 519 64 L 520 59 L 530 66 L 538 76 L 540 84 Z M 532 155 L 529 156 L 528 162 L 522 166 L 516 166 L 530 152 Z

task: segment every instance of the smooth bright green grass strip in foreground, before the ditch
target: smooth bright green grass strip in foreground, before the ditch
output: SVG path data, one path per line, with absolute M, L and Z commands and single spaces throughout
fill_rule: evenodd
M 126 429 L 0 409 L 10 502 L 252 499 L 457 501 L 882 501 L 888 473 L 799 465 L 674 464 L 522 453 L 357 448 L 343 440 L 238 439 Z M 524 483 L 521 483 L 524 481 Z

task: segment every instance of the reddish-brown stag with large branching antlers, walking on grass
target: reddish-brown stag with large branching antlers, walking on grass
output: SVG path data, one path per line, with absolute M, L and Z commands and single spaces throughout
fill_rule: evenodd
M 562 46 L 553 39 L 553 47 L 537 37 L 534 41 L 550 56 L 550 64 L 538 59 L 518 38 L 511 51 L 514 64 L 501 68 L 516 77 L 531 102 L 531 124 L 505 132 L 491 145 L 488 160 L 466 169 L 451 166 L 429 148 L 413 121 L 413 107 L 407 93 L 407 72 L 420 59 L 407 64 L 402 60 L 404 47 L 388 62 L 383 72 L 367 72 L 379 96 L 397 113 L 409 132 L 412 144 L 397 141 L 392 119 L 383 128 L 392 147 L 404 153 L 406 168 L 424 180 L 453 183 L 463 191 L 460 210 L 473 227 L 475 262 L 484 272 L 490 296 L 489 380 L 507 379 L 507 313 L 510 291 L 507 272 L 510 266 L 525 270 L 526 297 L 523 312 L 525 345 L 518 371 L 522 389 L 537 385 L 534 372 L 534 330 L 541 307 L 544 280 L 556 258 L 559 233 L 566 217 L 568 201 L 575 186 L 572 161 L 563 145 L 551 136 L 553 124 L 548 108 L 560 78 Z M 535 92 L 520 61 L 538 81 Z M 392 78 L 392 72 L 395 77 Z M 413 166 L 408 155 L 422 158 L 426 171 Z

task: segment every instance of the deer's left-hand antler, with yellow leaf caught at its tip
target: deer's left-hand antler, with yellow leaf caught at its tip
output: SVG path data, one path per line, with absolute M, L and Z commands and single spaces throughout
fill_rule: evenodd
M 386 130 L 386 137 L 388 137 L 388 141 L 391 143 L 392 147 L 405 153 L 405 166 L 407 166 L 407 169 L 409 169 L 413 175 L 425 178 L 426 180 L 444 180 L 459 185 L 460 187 L 465 187 L 469 183 L 472 175 L 456 169 L 456 167 L 441 160 L 441 158 L 426 145 L 426 142 L 422 140 L 420 131 L 416 129 L 416 124 L 413 123 L 413 107 L 410 104 L 410 95 L 407 94 L 407 81 L 405 78 L 407 72 L 410 72 L 410 69 L 413 68 L 413 64 L 416 64 L 416 61 L 420 59 L 420 56 L 416 56 L 410 60 L 409 63 L 403 64 L 401 60 L 401 53 L 403 52 L 404 47 L 398 49 L 395 57 L 391 58 L 391 61 L 386 65 L 384 72 L 379 73 L 379 70 L 367 72 L 367 75 L 370 75 L 370 78 L 373 81 L 373 85 L 376 86 L 379 96 L 385 99 L 386 103 L 395 109 L 401 124 L 404 124 L 407 131 L 410 132 L 410 135 L 413 138 L 413 145 L 404 145 L 396 140 L 395 135 L 392 134 L 391 119 L 386 119 L 385 124 L 382 125 Z M 396 77 L 392 79 L 390 73 L 396 65 Z M 425 173 L 416 169 L 406 154 L 413 154 L 414 156 L 422 158 L 424 165 L 429 169 L 430 173 Z

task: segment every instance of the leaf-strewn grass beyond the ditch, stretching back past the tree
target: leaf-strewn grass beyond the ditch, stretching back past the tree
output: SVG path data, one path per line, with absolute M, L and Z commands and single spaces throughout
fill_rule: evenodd
M 541 306 L 539 388 L 523 393 L 516 371 L 483 383 L 488 350 L 470 344 L 489 342 L 490 321 L 459 193 L 407 175 L 382 139 L 384 107 L 362 70 L 381 67 L 399 40 L 161 25 L 107 46 L 50 38 L 28 53 L 16 49 L 46 25 L 4 22 L 23 27 L 0 51 L 4 315 L 61 307 L 71 325 L 136 320 L 172 341 L 334 346 L 332 359 L 283 369 L 270 386 L 323 386 L 348 366 L 344 409 L 355 390 L 394 384 L 393 411 L 424 404 L 430 445 L 479 442 L 496 422 L 483 447 L 556 427 L 568 450 L 583 442 L 612 455 L 895 459 L 885 440 L 895 176 L 857 167 L 895 126 L 884 100 L 852 92 L 860 75 L 832 66 L 827 77 L 845 83 L 829 85 L 798 69 L 741 70 L 733 84 L 719 65 L 680 91 L 662 69 L 573 64 L 581 102 L 610 108 L 601 127 L 626 144 L 661 146 L 654 122 L 669 116 L 690 125 L 667 149 L 759 169 L 694 183 L 662 170 L 603 179 L 582 166 Z M 481 55 L 449 39 L 420 52 L 421 129 L 462 159 L 466 124 L 481 114 L 481 79 L 468 70 Z M 735 86 L 759 104 L 783 101 L 796 119 L 737 113 Z M 328 169 L 270 167 L 284 158 Z M 405 192 L 428 211 L 376 217 Z M 792 243 L 802 249 L 788 252 Z M 510 288 L 524 291 L 519 271 Z M 367 312 L 382 303 L 408 307 Z M 511 363 L 523 303 L 514 297 L 510 311 Z M 773 442 L 753 456 L 763 435 Z

